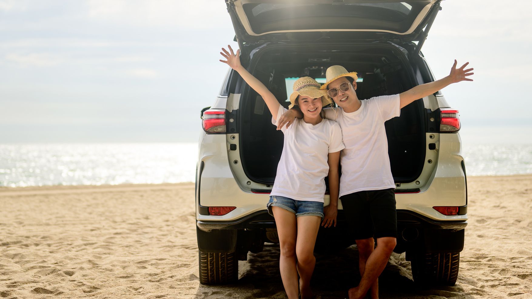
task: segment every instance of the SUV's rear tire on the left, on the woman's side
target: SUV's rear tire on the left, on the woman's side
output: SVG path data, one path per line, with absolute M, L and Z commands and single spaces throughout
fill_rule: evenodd
M 236 253 L 212 253 L 198 250 L 198 255 L 202 285 L 231 284 L 238 280 Z

